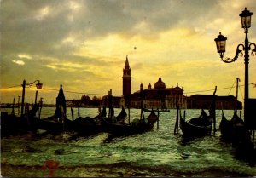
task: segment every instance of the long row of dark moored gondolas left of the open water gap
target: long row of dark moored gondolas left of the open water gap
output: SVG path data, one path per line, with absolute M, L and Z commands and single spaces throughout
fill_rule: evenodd
M 32 111 L 20 117 L 2 112 L 2 135 L 12 135 L 26 131 L 36 132 L 38 129 L 46 130 L 49 133 L 75 131 L 79 135 L 91 135 L 99 132 L 108 132 L 113 135 L 131 135 L 153 129 L 154 123 L 159 119 L 159 114 L 156 114 L 152 109 L 147 118 L 135 118 L 130 123 L 130 116 L 129 122 L 127 122 L 127 113 L 124 107 L 116 117 L 113 116 L 113 107 L 109 108 L 111 114 L 107 117 L 106 106 L 104 106 L 102 111 L 94 118 L 79 117 L 70 120 L 66 117 L 66 100 L 62 86 L 56 98 L 56 109 L 53 116 L 39 119 L 35 116 L 38 112 L 36 108 L 37 105 L 33 107 Z

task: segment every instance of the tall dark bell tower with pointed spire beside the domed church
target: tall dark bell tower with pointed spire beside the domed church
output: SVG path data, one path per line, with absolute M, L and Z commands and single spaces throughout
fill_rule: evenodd
M 126 55 L 125 68 L 123 69 L 123 95 L 131 95 L 131 68 Z

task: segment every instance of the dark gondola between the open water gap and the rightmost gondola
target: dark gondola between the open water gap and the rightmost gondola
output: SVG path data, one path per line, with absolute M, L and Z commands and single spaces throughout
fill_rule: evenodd
M 180 129 L 184 136 L 204 136 L 211 133 L 212 118 L 202 109 L 198 118 L 191 118 L 186 122 L 180 114 Z

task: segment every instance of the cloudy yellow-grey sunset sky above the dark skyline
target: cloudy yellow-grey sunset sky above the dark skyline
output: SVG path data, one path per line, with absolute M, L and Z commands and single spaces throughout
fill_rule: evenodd
M 253 0 L 1 0 L 0 102 L 17 102 L 24 79 L 43 83 L 44 103 L 55 103 L 61 84 L 67 100 L 110 89 L 121 96 L 126 55 L 132 93 L 161 77 L 187 96 L 212 95 L 215 86 L 216 95 L 236 95 L 240 78 L 243 101 L 244 58 L 222 62 L 214 38 L 228 38 L 224 58 L 233 58 L 245 39 L 245 7 L 253 12 L 248 38 L 256 43 Z M 255 70 L 250 55 L 249 83 L 256 83 Z M 27 102 L 35 91 L 35 83 L 26 88 Z M 256 98 L 253 84 L 249 97 Z

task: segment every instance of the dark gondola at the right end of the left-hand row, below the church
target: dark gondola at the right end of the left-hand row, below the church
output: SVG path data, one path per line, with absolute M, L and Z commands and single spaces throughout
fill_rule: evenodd
M 154 110 L 150 112 L 148 118 L 134 119 L 129 123 L 111 123 L 108 119 L 102 118 L 102 125 L 105 132 L 112 135 L 134 135 L 149 131 L 154 128 L 154 123 L 159 117 Z

